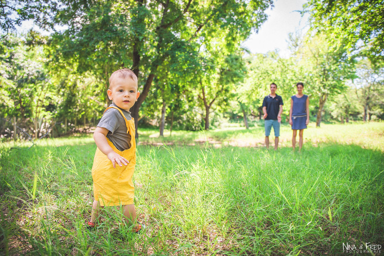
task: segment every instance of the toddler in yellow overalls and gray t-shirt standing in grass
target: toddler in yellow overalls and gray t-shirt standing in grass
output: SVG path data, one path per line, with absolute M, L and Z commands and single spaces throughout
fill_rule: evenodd
M 105 109 L 93 133 L 97 148 L 92 166 L 94 201 L 88 227 L 95 227 L 100 208 L 122 205 L 125 221 L 138 232 L 144 225 L 137 222 L 133 205 L 136 143 L 129 112 L 140 95 L 136 75 L 128 68 L 114 71 L 109 77 L 107 94 L 112 104 Z

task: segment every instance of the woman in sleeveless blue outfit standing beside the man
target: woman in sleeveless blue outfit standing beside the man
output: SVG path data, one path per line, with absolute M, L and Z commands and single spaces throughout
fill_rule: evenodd
M 290 97 L 289 124 L 292 125 L 292 147 L 296 147 L 296 134 L 298 132 L 298 150 L 302 147 L 302 133 L 309 123 L 309 99 L 308 95 L 302 94 L 304 84 L 296 83 L 297 94 Z

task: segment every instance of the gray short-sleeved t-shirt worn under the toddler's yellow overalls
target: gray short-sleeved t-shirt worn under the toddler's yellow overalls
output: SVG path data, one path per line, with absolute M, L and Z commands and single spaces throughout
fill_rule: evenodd
M 109 106 L 116 106 L 114 103 Z M 132 119 L 130 112 L 121 109 L 127 120 Z M 97 124 L 98 127 L 106 128 L 108 133 L 106 137 L 112 142 L 112 144 L 120 151 L 130 148 L 130 134 L 126 132 L 126 124 L 124 117 L 116 108 L 107 109 L 102 115 L 100 121 Z

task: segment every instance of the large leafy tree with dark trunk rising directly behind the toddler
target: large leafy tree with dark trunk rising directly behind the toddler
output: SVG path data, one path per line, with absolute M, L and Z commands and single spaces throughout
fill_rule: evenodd
M 165 59 L 177 52 L 196 52 L 201 42 L 220 32 L 228 44 L 245 39 L 266 19 L 271 0 L 173 2 L 74 1 L 57 12 L 58 51 L 76 58 L 79 67 L 104 77 L 128 66 L 140 78 L 140 96 L 131 108 L 135 124 L 154 77 Z M 241 35 L 241 36 L 239 36 Z M 137 136 L 137 129 L 136 129 Z

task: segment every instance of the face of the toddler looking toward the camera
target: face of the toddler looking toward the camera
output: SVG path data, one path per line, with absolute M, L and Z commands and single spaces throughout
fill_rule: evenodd
M 140 95 L 137 91 L 137 82 L 130 77 L 114 78 L 107 93 L 116 106 L 125 110 L 129 110 Z

